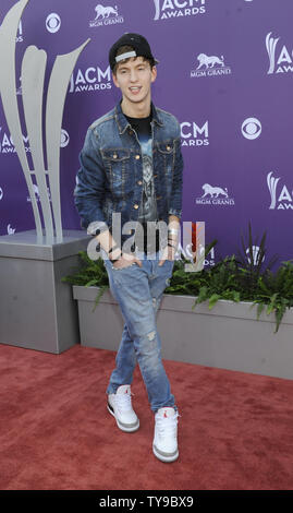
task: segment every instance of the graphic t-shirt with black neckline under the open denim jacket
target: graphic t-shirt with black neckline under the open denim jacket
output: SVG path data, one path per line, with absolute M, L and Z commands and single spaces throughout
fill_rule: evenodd
M 144 247 L 139 247 L 139 239 L 136 238 L 136 247 L 139 250 L 147 250 L 147 222 L 157 222 L 157 201 L 154 186 L 154 168 L 152 168 L 152 138 L 151 138 L 151 115 L 147 118 L 130 118 L 125 116 L 132 128 L 135 130 L 142 146 L 143 154 L 143 199 L 138 211 L 138 222 L 144 227 Z M 157 244 L 148 241 L 148 251 L 158 251 L 159 249 L 159 231 L 156 234 Z

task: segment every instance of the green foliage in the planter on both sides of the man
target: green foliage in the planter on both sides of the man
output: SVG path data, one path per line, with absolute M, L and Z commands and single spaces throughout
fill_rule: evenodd
M 263 311 L 267 314 L 274 312 L 276 331 L 279 330 L 283 314 L 288 308 L 293 307 L 293 260 L 282 262 L 277 272 L 271 267 L 277 261 L 273 256 L 268 263 L 264 262 L 266 255 L 266 234 L 260 242 L 253 239 L 252 227 L 248 225 L 247 240 L 241 237 L 242 250 L 237 254 L 221 259 L 210 269 L 193 273 L 185 272 L 188 260 L 182 254 L 181 260 L 174 262 L 173 274 L 166 294 L 195 296 L 196 305 L 208 301 L 208 308 L 212 309 L 219 299 L 234 302 L 249 301 L 252 307 L 257 307 L 259 319 Z M 215 247 L 213 240 L 205 249 L 205 256 Z M 259 248 L 255 251 L 255 248 Z M 109 288 L 108 274 L 101 258 L 96 261 L 89 259 L 85 251 L 80 253 L 81 265 L 75 267 L 74 274 L 62 278 L 63 282 L 85 287 L 99 287 L 95 300 L 98 305 L 103 291 Z

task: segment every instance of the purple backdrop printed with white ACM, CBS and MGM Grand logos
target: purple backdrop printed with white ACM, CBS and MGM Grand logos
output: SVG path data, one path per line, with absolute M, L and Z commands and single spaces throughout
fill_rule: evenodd
M 0 23 L 14 3 L 1 0 Z M 182 220 L 205 222 L 206 243 L 218 240 L 206 265 L 235 252 L 248 223 L 258 240 L 267 231 L 268 260 L 293 258 L 292 26 L 292 0 L 30 0 L 16 36 L 21 118 L 26 47 L 47 52 L 46 98 L 56 57 L 90 38 L 70 79 L 60 134 L 63 228 L 81 228 L 73 190 L 86 130 L 120 99 L 109 48 L 136 32 L 159 60 L 152 100 L 181 123 Z M 22 133 L 29 155 L 24 123 Z M 0 235 L 33 228 L 0 102 Z

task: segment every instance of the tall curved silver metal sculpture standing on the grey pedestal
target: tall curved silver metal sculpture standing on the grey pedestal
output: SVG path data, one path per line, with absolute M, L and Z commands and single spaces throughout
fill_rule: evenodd
M 47 53 L 30 45 L 26 48 L 22 61 L 22 92 L 25 124 L 29 139 L 34 169 L 30 170 L 25 152 L 15 82 L 15 45 L 17 27 L 28 0 L 20 0 L 5 15 L 0 26 L 0 94 L 7 122 L 19 155 L 28 188 L 37 240 L 42 241 L 42 226 L 34 190 L 33 175 L 39 192 L 41 213 L 47 241 L 62 241 L 60 204 L 60 139 L 65 95 L 77 58 L 88 38 L 70 53 L 57 56 L 51 71 L 46 103 L 46 155 L 44 162 L 42 100 Z M 49 191 L 49 192 L 48 192 Z M 52 202 L 50 205 L 49 193 Z

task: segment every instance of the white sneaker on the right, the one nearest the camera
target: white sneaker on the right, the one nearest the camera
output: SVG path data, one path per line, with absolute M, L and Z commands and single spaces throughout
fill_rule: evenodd
M 152 451 L 161 462 L 174 462 L 179 456 L 178 416 L 174 408 L 167 406 L 155 415 Z

